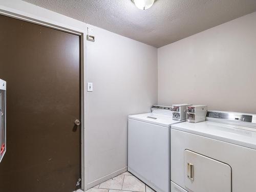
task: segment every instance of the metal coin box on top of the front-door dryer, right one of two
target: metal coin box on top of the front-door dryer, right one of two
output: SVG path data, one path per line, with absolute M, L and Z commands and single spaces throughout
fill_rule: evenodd
M 187 122 L 197 123 L 200 121 L 205 121 L 207 114 L 206 105 L 191 105 L 187 106 Z

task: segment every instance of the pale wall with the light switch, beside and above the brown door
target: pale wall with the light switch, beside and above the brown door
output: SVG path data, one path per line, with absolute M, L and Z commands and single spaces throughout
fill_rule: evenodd
M 0 0 L 0 11 L 25 15 L 87 34 L 87 24 L 20 1 Z M 95 42 L 83 41 L 85 79 L 84 188 L 124 172 L 127 115 L 148 112 L 157 102 L 157 49 L 90 26 Z

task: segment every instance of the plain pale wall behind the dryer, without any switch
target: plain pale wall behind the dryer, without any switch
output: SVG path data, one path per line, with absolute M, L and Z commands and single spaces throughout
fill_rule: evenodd
M 158 103 L 256 113 L 256 12 L 158 49 Z

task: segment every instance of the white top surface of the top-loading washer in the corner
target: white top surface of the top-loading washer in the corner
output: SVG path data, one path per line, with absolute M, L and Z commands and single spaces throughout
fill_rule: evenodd
M 160 113 L 144 113 L 138 115 L 129 115 L 129 119 L 135 119 L 165 127 L 170 127 L 170 125 L 172 124 L 183 122 L 179 120 L 173 120 L 173 115 L 166 115 Z

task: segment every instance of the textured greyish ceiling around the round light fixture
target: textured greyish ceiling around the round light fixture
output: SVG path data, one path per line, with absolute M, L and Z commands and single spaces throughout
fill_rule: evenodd
M 25 0 L 154 47 L 256 11 L 256 0 L 157 0 L 140 10 L 131 0 Z

